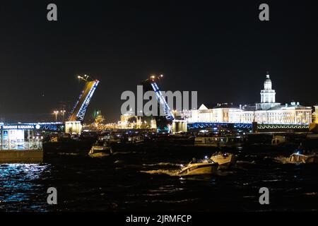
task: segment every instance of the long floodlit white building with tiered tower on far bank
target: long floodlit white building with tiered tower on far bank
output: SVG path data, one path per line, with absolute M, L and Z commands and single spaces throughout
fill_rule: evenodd
M 312 123 L 312 107 L 303 107 L 299 102 L 281 105 L 276 102 L 276 92 L 272 89 L 271 78 L 266 75 L 264 89 L 261 90 L 261 102 L 254 106 L 240 105 L 230 107 L 218 105 L 208 109 L 205 105 L 192 110 L 191 117 L 186 120 L 193 122 L 229 122 L 252 124 L 310 124 Z M 316 114 L 317 107 L 316 107 Z

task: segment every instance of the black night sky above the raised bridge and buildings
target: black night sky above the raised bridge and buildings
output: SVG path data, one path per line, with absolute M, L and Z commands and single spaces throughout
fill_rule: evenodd
M 11 1 L 0 5 L 0 118 L 54 120 L 83 83 L 100 80 L 86 119 L 117 121 L 124 90 L 163 73 L 162 90 L 198 102 L 259 102 L 266 71 L 277 102 L 318 102 L 315 1 Z M 58 21 L 47 21 L 47 4 Z M 269 4 L 270 21 L 259 20 Z

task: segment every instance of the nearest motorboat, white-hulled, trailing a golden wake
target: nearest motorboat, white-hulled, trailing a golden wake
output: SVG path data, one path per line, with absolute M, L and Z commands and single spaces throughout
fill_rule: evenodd
M 206 158 L 201 161 L 192 160 L 188 165 L 182 166 L 182 169 L 177 173 L 178 176 L 192 176 L 199 174 L 213 174 L 218 169 L 218 163 Z

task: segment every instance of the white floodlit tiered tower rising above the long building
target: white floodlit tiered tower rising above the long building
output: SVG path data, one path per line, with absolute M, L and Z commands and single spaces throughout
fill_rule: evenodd
M 275 102 L 275 90 L 272 89 L 271 78 L 269 73 L 266 74 L 266 80 L 264 81 L 264 90 L 261 90 L 261 102 L 256 105 L 256 109 L 270 109 L 280 103 Z

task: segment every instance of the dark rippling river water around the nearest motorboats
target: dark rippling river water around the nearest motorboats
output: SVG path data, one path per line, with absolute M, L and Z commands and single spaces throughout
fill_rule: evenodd
M 278 154 L 243 150 L 236 167 L 175 177 L 180 164 L 209 148 L 126 148 L 112 156 L 57 155 L 40 165 L 0 165 L 0 211 L 318 210 L 318 165 L 283 164 Z M 287 155 L 285 155 L 287 156 Z M 58 205 L 47 204 L 56 187 Z M 269 205 L 259 188 L 269 188 Z

